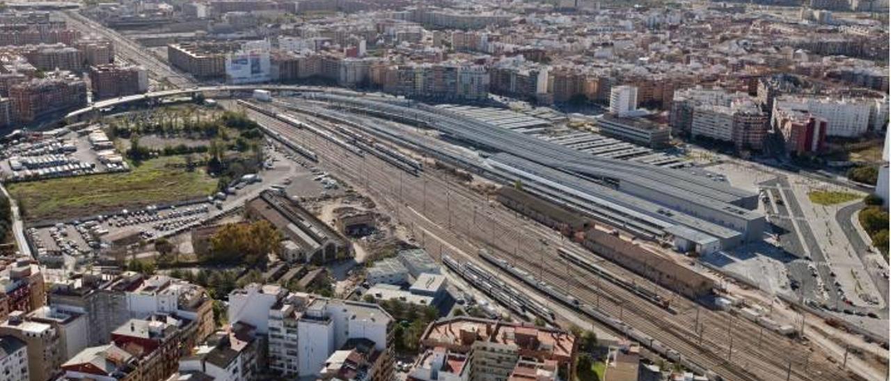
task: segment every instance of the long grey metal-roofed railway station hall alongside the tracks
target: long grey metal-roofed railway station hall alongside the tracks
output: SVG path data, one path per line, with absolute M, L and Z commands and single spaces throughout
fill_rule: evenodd
M 540 197 L 642 236 L 665 237 L 666 229 L 682 224 L 717 239 L 722 248 L 762 238 L 764 215 L 751 210 L 757 205 L 756 193 L 726 182 L 633 160 L 596 157 L 421 103 L 322 93 L 306 96 L 437 129 L 488 157 L 484 165 L 450 157 L 463 161 L 457 164 L 503 182 L 519 180 L 525 190 L 535 190 Z M 428 150 L 440 153 L 437 147 Z

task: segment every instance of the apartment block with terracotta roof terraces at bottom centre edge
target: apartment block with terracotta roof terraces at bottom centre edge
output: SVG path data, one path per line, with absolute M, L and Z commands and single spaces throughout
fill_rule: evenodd
M 558 380 L 559 369 L 570 368 L 576 340 L 556 328 L 453 317 L 430 323 L 421 350 L 409 380 Z

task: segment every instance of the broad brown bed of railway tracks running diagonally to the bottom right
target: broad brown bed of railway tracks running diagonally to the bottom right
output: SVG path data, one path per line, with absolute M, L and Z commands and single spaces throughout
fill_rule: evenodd
M 602 265 L 610 272 L 672 298 L 680 313 L 642 302 L 625 288 L 601 282 L 590 274 L 573 273 L 572 268 L 560 262 L 556 247 L 568 247 L 596 260 L 602 258 L 568 242 L 555 231 L 503 207 L 492 206 L 485 195 L 455 184 L 456 179 L 447 174 L 426 171 L 415 177 L 371 155 L 358 157 L 275 119 L 253 112 L 249 115 L 315 150 L 322 157 L 320 166 L 367 192 L 389 215 L 413 231 L 418 243 L 433 255 L 448 252 L 461 256 L 462 260 L 481 263 L 474 254 L 479 248 L 488 248 L 529 272 L 541 274 L 555 287 L 568 288 L 583 302 L 597 305 L 610 315 L 621 316 L 634 328 L 728 379 L 786 379 L 790 363 L 790 379 L 805 380 L 818 375 L 832 379 L 849 377 L 824 357 L 809 359 L 811 351 L 805 345 L 772 331 L 762 332 L 754 323 L 735 319 L 726 312 L 699 309 L 697 304 L 682 297 L 672 298 L 670 291 L 613 263 Z M 321 121 L 307 120 L 323 126 Z M 550 265 L 544 267 L 543 263 Z M 598 287 L 594 287 L 595 284 Z M 698 310 L 699 329 L 694 327 Z M 701 343 L 699 332 L 702 332 Z

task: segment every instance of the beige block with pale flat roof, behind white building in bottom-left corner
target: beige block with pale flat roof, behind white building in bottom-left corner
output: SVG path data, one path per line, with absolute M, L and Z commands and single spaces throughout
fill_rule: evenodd
M 24 313 L 11 312 L 9 319 L 0 323 L 0 336 L 13 336 L 25 343 L 32 381 L 50 379 L 59 370 L 63 360 L 59 333 L 49 324 L 25 320 Z

